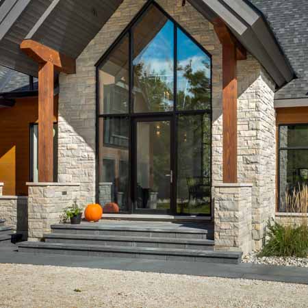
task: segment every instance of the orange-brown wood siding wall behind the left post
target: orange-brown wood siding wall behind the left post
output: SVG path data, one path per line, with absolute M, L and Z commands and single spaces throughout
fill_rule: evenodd
M 57 121 L 55 97 L 53 121 Z M 27 195 L 31 123 L 38 123 L 38 98 L 16 99 L 14 107 L 0 109 L 0 182 L 3 195 Z

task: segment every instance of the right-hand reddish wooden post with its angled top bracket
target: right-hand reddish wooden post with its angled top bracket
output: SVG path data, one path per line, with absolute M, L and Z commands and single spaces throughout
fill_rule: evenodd
M 238 79 L 237 60 L 246 60 L 246 49 L 217 18 L 214 30 L 222 44 L 222 181 L 238 182 Z

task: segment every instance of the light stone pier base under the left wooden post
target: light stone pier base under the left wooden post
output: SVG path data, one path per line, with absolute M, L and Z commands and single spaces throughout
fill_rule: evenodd
M 59 223 L 65 207 L 79 205 L 80 183 L 27 183 L 28 240 L 41 240 Z

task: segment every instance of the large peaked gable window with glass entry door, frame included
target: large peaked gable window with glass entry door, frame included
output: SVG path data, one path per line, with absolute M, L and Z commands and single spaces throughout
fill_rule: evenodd
M 97 64 L 97 123 L 99 203 L 211 214 L 211 55 L 155 1 Z

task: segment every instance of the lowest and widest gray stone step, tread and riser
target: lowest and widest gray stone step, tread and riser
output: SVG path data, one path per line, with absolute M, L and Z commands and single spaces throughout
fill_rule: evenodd
M 194 249 L 101 246 L 92 244 L 65 244 L 49 242 L 22 242 L 18 245 L 22 253 L 60 255 L 84 255 L 89 257 L 123 257 L 159 259 L 163 261 L 199 261 L 224 264 L 239 264 L 242 253 L 200 251 Z

